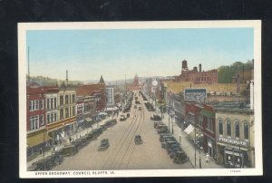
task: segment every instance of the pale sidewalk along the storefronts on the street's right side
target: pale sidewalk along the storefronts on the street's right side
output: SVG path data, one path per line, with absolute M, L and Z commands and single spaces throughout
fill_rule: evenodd
M 156 113 L 160 115 L 160 111 L 156 109 Z M 163 113 L 164 119 L 161 121 L 164 122 L 167 126 L 169 125 L 169 115 L 168 113 Z M 169 130 L 172 132 L 172 124 L 173 124 L 173 132 L 176 140 L 180 141 L 180 147 L 186 152 L 189 161 L 193 168 L 199 169 L 199 149 L 197 148 L 195 151 L 194 142 L 189 140 L 189 136 L 183 130 L 180 134 L 180 127 L 172 122 L 170 118 L 170 127 Z M 195 152 L 196 152 L 196 166 L 195 166 Z M 200 150 L 200 161 L 201 161 L 201 169 L 224 169 L 223 166 L 216 164 L 215 160 L 212 157 L 209 157 L 209 161 L 206 162 L 206 154 L 203 149 Z

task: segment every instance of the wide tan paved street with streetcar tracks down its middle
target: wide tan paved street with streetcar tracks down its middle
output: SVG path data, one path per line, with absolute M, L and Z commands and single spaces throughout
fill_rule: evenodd
M 138 93 L 137 93 L 138 96 Z M 65 157 L 61 165 L 52 170 L 84 170 L 84 169 L 192 169 L 188 162 L 178 165 L 173 163 L 167 151 L 160 148 L 159 135 L 153 128 L 151 115 L 147 111 L 141 96 L 141 111 L 131 105 L 131 117 L 118 122 L 104 131 L 97 139 L 80 149 L 73 157 Z M 134 144 L 135 135 L 140 134 L 143 143 Z M 98 151 L 100 141 L 109 139 L 110 148 Z

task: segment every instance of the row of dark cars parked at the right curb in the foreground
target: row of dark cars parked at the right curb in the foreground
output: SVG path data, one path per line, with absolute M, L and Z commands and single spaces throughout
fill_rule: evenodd
M 154 128 L 160 134 L 161 148 L 166 149 L 174 163 L 182 164 L 188 161 L 186 153 L 181 149 L 180 143 L 170 133 L 168 127 L 160 121 L 154 122 Z

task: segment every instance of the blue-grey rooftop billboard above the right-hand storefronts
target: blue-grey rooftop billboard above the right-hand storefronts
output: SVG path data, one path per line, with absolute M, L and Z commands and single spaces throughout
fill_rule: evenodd
M 207 91 L 206 88 L 195 88 L 184 90 L 184 101 L 206 101 Z

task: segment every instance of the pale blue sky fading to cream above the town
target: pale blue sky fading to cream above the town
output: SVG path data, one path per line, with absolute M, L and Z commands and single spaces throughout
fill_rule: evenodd
M 253 28 L 28 30 L 30 75 L 70 81 L 173 76 L 253 59 Z M 27 64 L 27 63 L 26 63 Z

